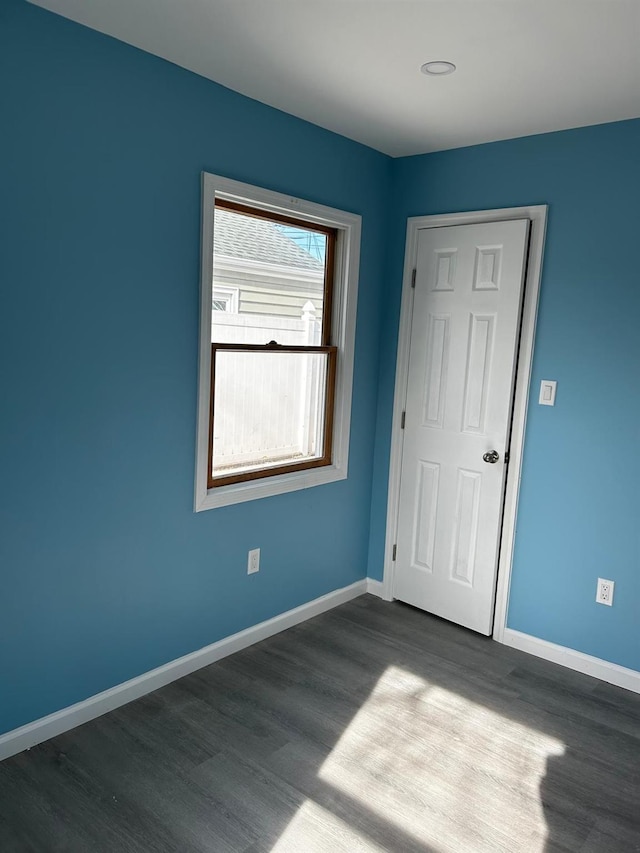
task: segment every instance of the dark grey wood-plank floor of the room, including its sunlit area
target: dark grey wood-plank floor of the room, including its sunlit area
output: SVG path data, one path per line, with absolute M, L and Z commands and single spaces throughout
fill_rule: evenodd
M 640 850 L 640 696 L 363 596 L 0 764 L 0 851 Z

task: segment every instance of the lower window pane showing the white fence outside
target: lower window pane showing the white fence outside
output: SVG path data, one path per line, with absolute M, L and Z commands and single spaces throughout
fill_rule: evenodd
M 328 358 L 216 351 L 214 477 L 322 458 Z

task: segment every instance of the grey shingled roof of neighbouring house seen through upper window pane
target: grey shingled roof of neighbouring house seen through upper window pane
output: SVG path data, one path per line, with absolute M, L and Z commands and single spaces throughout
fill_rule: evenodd
M 305 251 L 273 222 L 216 208 L 213 251 L 231 258 L 322 271 L 324 264 Z

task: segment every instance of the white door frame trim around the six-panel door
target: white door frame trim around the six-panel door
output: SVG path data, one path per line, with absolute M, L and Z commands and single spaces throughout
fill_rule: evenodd
M 500 557 L 498 561 L 498 585 L 493 621 L 493 638 L 503 642 L 507 623 L 507 606 L 511 582 L 513 544 L 522 476 L 522 454 L 524 432 L 527 420 L 527 403 L 531 381 L 533 344 L 538 314 L 538 294 L 542 273 L 542 255 L 547 225 L 547 205 L 531 207 L 506 207 L 500 210 L 477 210 L 468 213 L 447 213 L 435 216 L 412 216 L 407 220 L 407 241 L 402 277 L 402 306 L 400 309 L 400 328 L 398 335 L 398 355 L 396 361 L 396 385 L 393 399 L 393 423 L 391 427 L 391 459 L 389 464 L 389 492 L 387 501 L 387 527 L 384 549 L 384 576 L 382 597 L 387 601 L 393 598 L 395 563 L 393 549 L 398 529 L 398 511 L 400 505 L 400 472 L 402 466 L 402 413 L 406 409 L 407 379 L 409 374 L 409 347 L 411 343 L 411 317 L 413 312 L 413 294 L 411 287 L 413 271 L 418 254 L 418 231 L 424 228 L 445 228 L 451 225 L 473 225 L 479 222 L 502 222 L 508 219 L 529 219 L 531 234 L 529 255 L 525 275 L 524 303 L 522 307 L 522 325 L 520 346 L 518 348 L 518 372 L 514 389 L 513 425 L 509 446 L 509 469 L 504 496 L 503 524 L 500 537 Z

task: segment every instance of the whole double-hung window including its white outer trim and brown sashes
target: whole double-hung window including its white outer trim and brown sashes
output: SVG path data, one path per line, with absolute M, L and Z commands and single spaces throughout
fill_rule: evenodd
M 360 217 L 203 176 L 196 510 L 347 475 Z

